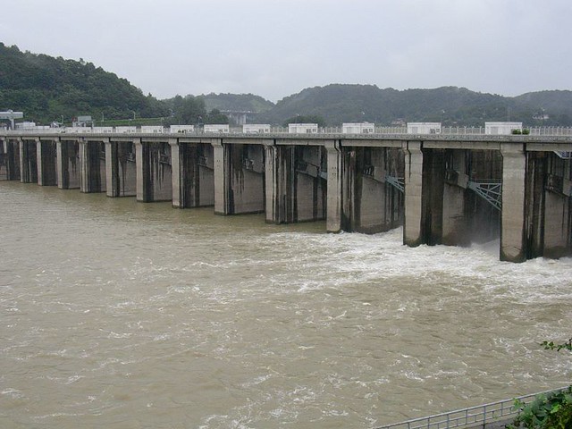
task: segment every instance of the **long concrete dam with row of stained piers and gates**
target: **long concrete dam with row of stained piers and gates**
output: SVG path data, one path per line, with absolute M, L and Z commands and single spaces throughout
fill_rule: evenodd
M 403 225 L 408 246 L 500 238 L 501 260 L 572 254 L 572 137 L 0 134 L 0 180 L 265 213 L 327 231 Z

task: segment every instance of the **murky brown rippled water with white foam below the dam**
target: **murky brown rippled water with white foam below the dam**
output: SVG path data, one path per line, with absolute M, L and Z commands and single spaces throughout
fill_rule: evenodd
M 572 259 L 0 182 L 0 427 L 371 428 L 569 383 Z

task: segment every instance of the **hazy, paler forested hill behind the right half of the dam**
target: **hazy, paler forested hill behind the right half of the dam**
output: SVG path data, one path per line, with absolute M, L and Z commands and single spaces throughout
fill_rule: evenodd
M 261 121 L 318 116 L 330 125 L 341 122 L 443 122 L 483 125 L 485 121 L 519 121 L 527 125 L 572 125 L 572 91 L 542 91 L 519 97 L 483 94 L 467 88 L 377 88 L 332 84 L 307 88 L 280 100 Z

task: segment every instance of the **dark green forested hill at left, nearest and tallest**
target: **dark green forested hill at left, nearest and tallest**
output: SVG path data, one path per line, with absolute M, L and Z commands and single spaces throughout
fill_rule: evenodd
M 167 115 L 155 97 L 92 63 L 21 52 L 0 43 L 0 109 L 24 112 L 27 121 L 49 123 L 89 114 L 105 119 Z

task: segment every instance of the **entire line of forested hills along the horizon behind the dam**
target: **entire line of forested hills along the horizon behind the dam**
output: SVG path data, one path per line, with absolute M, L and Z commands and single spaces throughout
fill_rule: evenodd
M 84 114 L 102 120 L 137 116 L 196 123 L 207 111 L 220 110 L 255 112 L 251 121 L 272 124 L 315 116 L 332 126 L 341 122 L 390 125 L 398 121 L 467 126 L 518 121 L 526 126 L 572 126 L 572 91 L 503 97 L 457 87 L 397 90 L 331 84 L 305 88 L 275 104 L 253 94 L 211 93 L 158 100 L 92 63 L 21 52 L 17 46 L 0 43 L 0 110 L 7 109 L 22 111 L 26 120 L 41 123 Z

